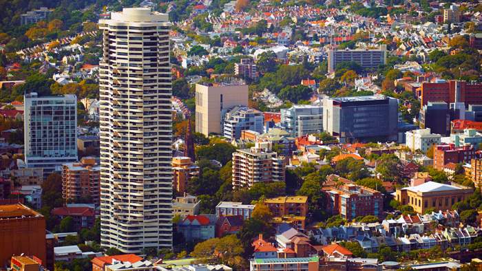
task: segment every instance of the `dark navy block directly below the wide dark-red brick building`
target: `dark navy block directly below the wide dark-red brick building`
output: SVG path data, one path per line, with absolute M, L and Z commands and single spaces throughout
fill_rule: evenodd
M 419 114 L 420 128 L 429 128 L 432 133 L 450 133 L 450 109 L 446 102 L 428 102 Z

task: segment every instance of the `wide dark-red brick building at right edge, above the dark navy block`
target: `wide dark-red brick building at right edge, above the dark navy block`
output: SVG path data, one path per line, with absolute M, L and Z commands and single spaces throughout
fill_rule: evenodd
M 470 84 L 465 81 L 449 80 L 443 83 L 422 83 L 420 100 L 421 105 L 432 102 L 455 102 L 459 88 L 459 102 L 465 104 L 482 104 L 482 84 Z

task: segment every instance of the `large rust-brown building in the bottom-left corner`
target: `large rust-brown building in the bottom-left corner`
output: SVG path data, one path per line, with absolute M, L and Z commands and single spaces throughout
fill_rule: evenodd
M 23 204 L 0 205 L 0 263 L 13 255 L 46 260 L 45 217 Z

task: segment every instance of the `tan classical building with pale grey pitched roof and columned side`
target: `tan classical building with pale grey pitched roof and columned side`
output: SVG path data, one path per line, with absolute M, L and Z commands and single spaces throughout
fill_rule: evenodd
M 473 188 L 459 184 L 426 182 L 418 186 L 397 188 L 395 199 L 402 205 L 410 205 L 415 212 L 423 214 L 429 208 L 435 211 L 451 210 L 452 205 L 461 202 L 474 192 Z

